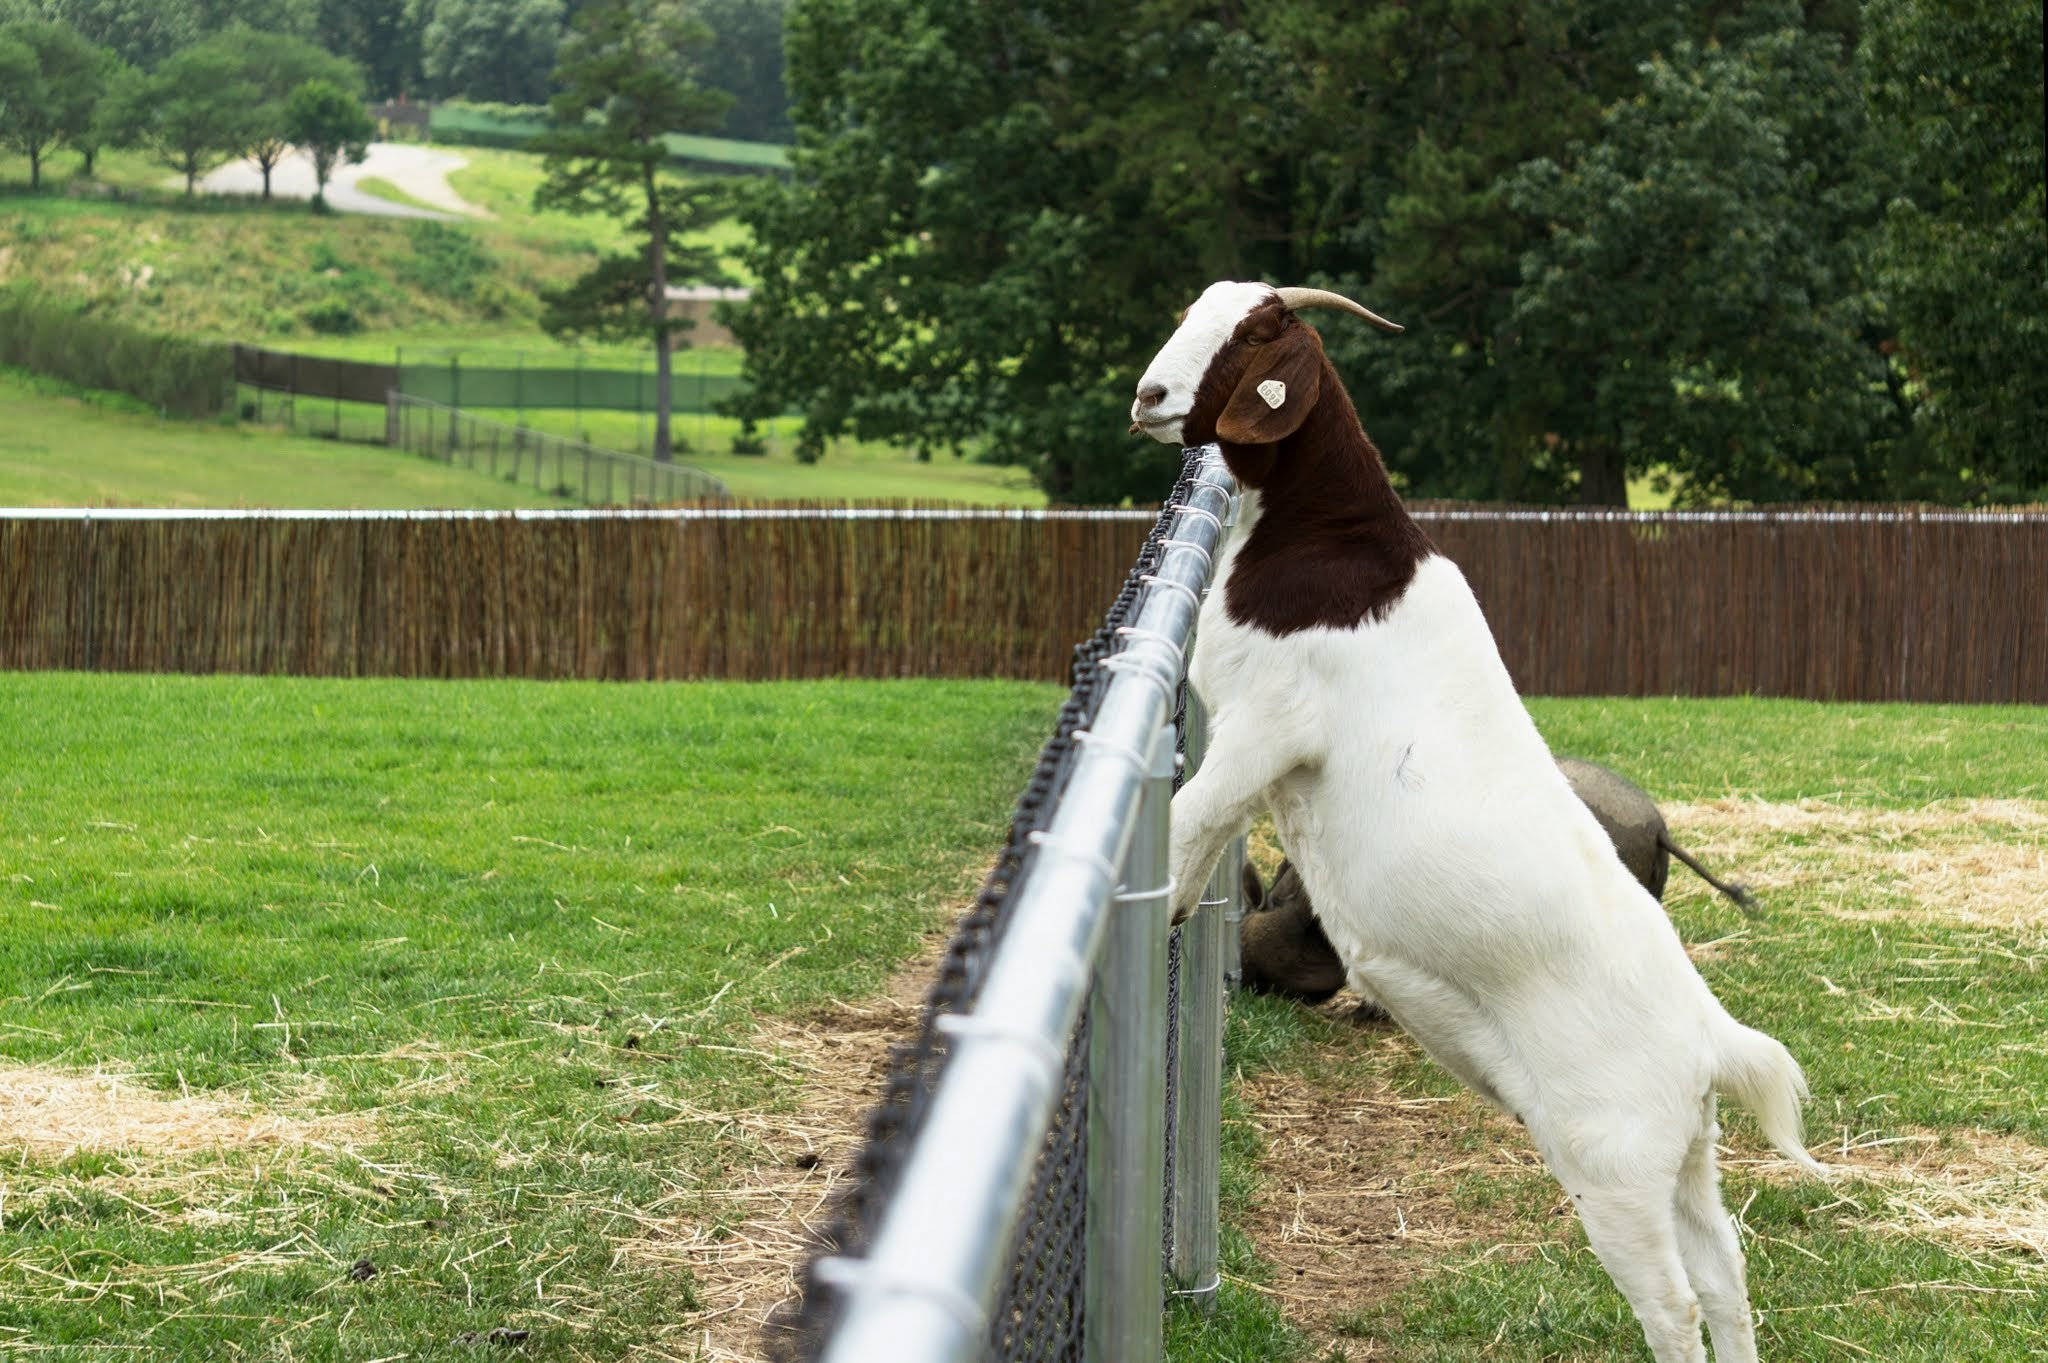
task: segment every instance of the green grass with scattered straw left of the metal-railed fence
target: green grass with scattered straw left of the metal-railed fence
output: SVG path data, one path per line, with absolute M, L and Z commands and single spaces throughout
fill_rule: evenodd
M 950 919 L 1059 698 L 0 675 L 0 1083 L 158 1113 L 0 1115 L 0 1353 L 696 1357 L 635 1246 L 729 1232 L 756 1021 Z

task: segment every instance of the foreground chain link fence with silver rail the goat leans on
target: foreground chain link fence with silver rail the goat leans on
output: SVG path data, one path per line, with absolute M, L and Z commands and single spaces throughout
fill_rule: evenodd
M 1235 868 L 1176 931 L 1184 974 L 1167 980 L 1165 804 L 1229 508 L 1221 454 L 1190 454 L 1075 651 L 1008 847 L 891 1058 L 784 1357 L 1149 1363 L 1161 1275 L 1214 1291 L 1221 1122 L 1204 1095 L 1221 1093 L 1219 890 Z

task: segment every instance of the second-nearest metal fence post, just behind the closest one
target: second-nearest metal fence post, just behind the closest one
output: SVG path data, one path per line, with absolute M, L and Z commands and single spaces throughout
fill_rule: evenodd
M 1190 651 L 1194 645 L 1188 645 Z M 1188 774 L 1208 749 L 1208 712 L 1188 688 Z M 1202 909 L 1180 925 L 1180 1046 L 1174 1072 L 1174 1295 L 1212 1310 L 1221 1285 L 1223 1187 L 1223 976 L 1225 933 L 1235 933 L 1245 839 L 1235 837 L 1202 890 Z

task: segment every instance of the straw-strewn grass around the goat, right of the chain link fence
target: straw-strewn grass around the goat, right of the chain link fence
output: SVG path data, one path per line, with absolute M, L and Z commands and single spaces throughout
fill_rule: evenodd
M 1845 1167 L 1806 1179 L 1722 1105 L 1761 1355 L 2048 1357 L 2048 710 L 1530 708 L 1556 751 L 1638 780 L 1681 843 L 1765 905 L 1749 921 L 1673 866 L 1667 909 L 1702 974 L 1802 1060 L 1808 1142 Z M 1307 1205 L 1311 1236 L 1288 1261 L 1311 1277 L 1227 1240 L 1239 1281 L 1217 1316 L 1176 1316 L 1174 1357 L 1649 1357 L 1526 1136 L 1413 1042 L 1243 997 L 1231 1048 L 1227 1216 L 1284 1236 Z M 1245 1097 L 1272 1091 L 1288 1101 Z M 1268 1146 L 1305 1095 L 1317 1140 L 1360 1144 L 1356 1171 L 1331 1181 Z M 1389 1201 L 1346 1205 L 1376 1205 L 1386 1228 L 1323 1226 L 1317 1250 L 1317 1199 L 1382 1183 L 1372 1197 Z M 1413 1224 L 1395 1224 L 1399 1203 Z

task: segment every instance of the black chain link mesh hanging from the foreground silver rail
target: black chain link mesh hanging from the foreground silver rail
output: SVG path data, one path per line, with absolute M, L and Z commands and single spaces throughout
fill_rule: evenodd
M 1100 663 L 1118 651 L 1116 630 L 1137 616 L 1145 585 L 1139 581 L 1159 565 L 1174 505 L 1186 501 L 1198 454 L 1188 454 L 1180 481 L 1167 497 L 1159 522 L 1139 551 L 1124 577 L 1102 628 L 1073 651 L 1073 690 L 1059 710 L 1053 737 L 1038 753 L 1024 794 L 1010 823 L 1010 841 L 989 870 L 975 905 L 961 917 L 946 954 L 940 960 L 932 988 L 926 995 L 918 1034 L 891 1050 L 889 1074 L 881 1097 L 866 1117 L 866 1142 L 854 1156 L 852 1175 L 819 1232 L 819 1244 L 801 1275 L 803 1298 L 784 1318 L 784 1330 L 774 1340 L 776 1355 L 786 1363 L 819 1357 L 840 1314 L 838 1291 L 817 1281 L 813 1267 L 827 1255 L 862 1257 L 924 1126 L 932 1093 L 944 1079 L 948 1050 L 938 1019 L 946 1013 L 967 1013 L 987 976 L 989 960 L 1010 925 L 1010 903 L 1030 872 L 1034 849 L 1030 835 L 1049 827 L 1073 772 L 1077 745 L 1073 733 L 1087 729 L 1102 704 L 1110 673 Z M 1186 751 L 1186 686 L 1176 712 L 1180 751 Z M 1178 784 L 1178 778 L 1176 778 Z M 1167 958 L 1167 1027 L 1178 1015 L 1180 997 L 1180 933 L 1174 933 Z M 1012 1267 L 989 1316 L 987 1357 L 1001 1363 L 1079 1363 L 1081 1359 L 1081 1295 L 1085 1281 L 1087 1232 L 1087 1011 L 1067 1044 L 1065 1091 L 1047 1132 L 1032 1173 L 1030 1193 L 1018 1228 Z M 1171 1046 L 1174 1038 L 1167 1036 Z M 1174 1054 L 1167 1050 L 1167 1054 Z M 1167 1066 L 1167 1177 L 1161 1197 L 1167 1199 L 1167 1242 L 1171 1244 L 1171 1128 L 1174 1087 Z

